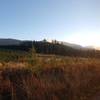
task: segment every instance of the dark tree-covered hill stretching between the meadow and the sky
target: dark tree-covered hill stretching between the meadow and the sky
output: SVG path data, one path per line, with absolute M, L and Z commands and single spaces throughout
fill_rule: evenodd
M 100 58 L 100 51 L 94 49 L 76 49 L 63 43 L 47 42 L 47 41 L 22 41 L 19 45 L 0 45 L 3 50 L 21 50 L 29 51 L 32 47 L 37 53 L 41 54 L 56 54 L 62 56 L 74 57 L 98 57 Z

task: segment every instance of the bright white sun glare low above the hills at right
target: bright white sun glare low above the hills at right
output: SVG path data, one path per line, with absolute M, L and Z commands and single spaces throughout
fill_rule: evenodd
M 95 33 L 87 34 L 73 34 L 68 39 L 68 42 L 79 44 L 81 46 L 93 46 L 95 48 L 100 47 L 100 35 Z

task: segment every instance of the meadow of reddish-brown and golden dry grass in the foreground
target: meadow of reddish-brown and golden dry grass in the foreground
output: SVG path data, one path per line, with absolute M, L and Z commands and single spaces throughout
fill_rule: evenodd
M 92 100 L 100 91 L 99 58 L 0 55 L 0 100 Z

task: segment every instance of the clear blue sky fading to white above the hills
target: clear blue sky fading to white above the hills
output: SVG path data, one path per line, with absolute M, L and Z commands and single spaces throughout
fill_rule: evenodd
M 100 0 L 0 0 L 0 38 L 100 46 Z

